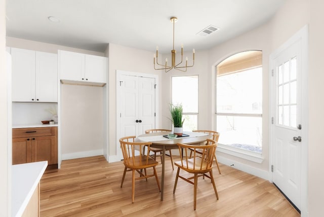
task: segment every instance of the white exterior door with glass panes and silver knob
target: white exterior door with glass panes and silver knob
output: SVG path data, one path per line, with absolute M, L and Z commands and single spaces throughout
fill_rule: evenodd
M 307 78 L 303 78 L 307 67 L 302 45 L 303 41 L 298 38 L 271 59 L 272 180 L 298 209 L 301 209 L 302 188 L 307 188 L 303 181 L 303 174 L 307 177 L 307 165 L 302 163 L 307 158 L 307 117 L 304 115 Z

